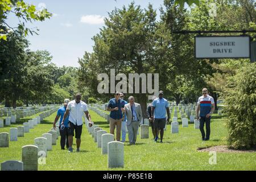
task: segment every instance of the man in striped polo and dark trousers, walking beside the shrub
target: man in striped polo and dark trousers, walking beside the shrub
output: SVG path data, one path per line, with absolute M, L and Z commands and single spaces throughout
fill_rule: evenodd
M 210 139 L 210 116 L 214 111 L 214 100 L 208 95 L 207 88 L 202 90 L 203 96 L 199 97 L 196 108 L 196 119 L 200 119 L 200 131 L 202 134 L 202 140 Z M 200 110 L 200 115 L 199 115 Z M 206 126 L 206 136 L 204 132 L 204 123 Z

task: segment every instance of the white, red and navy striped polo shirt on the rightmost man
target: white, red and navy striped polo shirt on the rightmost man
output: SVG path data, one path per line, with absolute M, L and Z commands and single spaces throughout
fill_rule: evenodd
M 198 98 L 197 105 L 200 105 L 200 116 L 205 117 L 210 113 L 210 109 L 212 109 L 212 104 L 214 104 L 214 100 L 212 97 L 207 95 L 207 97 L 201 96 Z

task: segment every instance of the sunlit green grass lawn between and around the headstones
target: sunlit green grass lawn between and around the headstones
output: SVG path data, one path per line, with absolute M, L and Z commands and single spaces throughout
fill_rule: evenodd
M 36 115 L 39 115 L 39 113 Z M 34 144 L 34 138 L 47 133 L 52 127 L 55 115 L 56 113 L 44 119 L 35 129 L 30 129 L 30 133 L 25 133 L 24 137 L 19 137 L 18 142 L 9 142 L 9 148 L 0 148 L 0 163 L 5 160 L 21 160 L 22 146 Z M 90 110 L 90 115 L 94 124 L 99 125 L 109 133 L 109 125 L 104 118 L 101 118 L 92 110 Z M 33 117 L 35 115 L 24 118 L 15 125 L 1 128 L 0 133 L 9 133 L 11 127 L 22 126 L 22 122 Z M 171 125 L 168 125 L 164 133 L 164 143 L 153 142 L 150 128 L 149 139 L 140 139 L 138 135 L 135 146 L 130 146 L 129 142 L 125 142 L 125 167 L 109 169 L 108 156 L 101 155 L 101 149 L 97 148 L 84 125 L 81 137 L 81 152 L 69 154 L 67 150 L 60 150 L 59 137 L 57 145 L 53 146 L 52 151 L 48 151 L 46 165 L 39 165 L 39 170 L 255 170 L 256 152 L 242 154 L 217 152 L 217 164 L 211 165 L 209 164 L 211 155 L 208 152 L 197 151 L 198 147 L 226 144 L 227 131 L 224 126 L 225 119 L 214 114 L 210 140 L 207 142 L 201 141 L 200 131 L 193 129 L 193 124 L 183 128 L 180 122 L 179 134 L 171 134 Z M 127 140 L 128 136 L 126 136 Z M 76 148 L 75 144 L 73 148 Z

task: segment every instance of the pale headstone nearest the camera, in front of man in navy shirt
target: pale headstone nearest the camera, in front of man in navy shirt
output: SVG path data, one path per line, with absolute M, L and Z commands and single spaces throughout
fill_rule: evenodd
M 123 143 L 109 142 L 108 143 L 108 168 L 123 168 Z

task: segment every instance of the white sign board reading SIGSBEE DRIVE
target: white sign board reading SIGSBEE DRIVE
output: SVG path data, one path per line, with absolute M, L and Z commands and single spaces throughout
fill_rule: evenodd
M 210 58 L 249 58 L 249 36 L 196 36 L 195 57 Z

